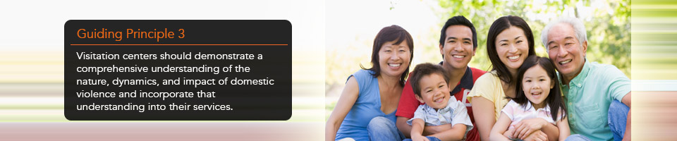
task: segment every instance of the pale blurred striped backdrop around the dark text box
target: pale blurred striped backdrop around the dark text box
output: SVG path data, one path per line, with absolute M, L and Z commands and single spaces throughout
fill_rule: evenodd
M 324 1 L 3 1 L 0 13 L 0 140 L 324 137 Z M 293 116 L 288 121 L 68 121 L 63 117 L 66 20 L 289 20 Z

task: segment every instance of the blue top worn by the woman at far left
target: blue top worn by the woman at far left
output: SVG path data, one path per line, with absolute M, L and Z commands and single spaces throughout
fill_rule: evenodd
M 348 79 L 355 77 L 355 80 L 358 81 L 360 93 L 346 118 L 343 118 L 343 123 L 341 123 L 341 127 L 336 132 L 336 140 L 345 137 L 351 137 L 355 140 L 369 140 L 367 125 L 372 118 L 377 116 L 383 116 L 395 123 L 395 113 L 397 110 L 390 114 L 384 114 L 381 111 L 379 80 L 372 74 L 374 74 L 374 71 L 360 70 L 348 77 Z

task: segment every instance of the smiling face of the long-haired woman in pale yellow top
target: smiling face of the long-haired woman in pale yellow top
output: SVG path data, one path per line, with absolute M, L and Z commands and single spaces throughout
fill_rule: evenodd
M 517 72 L 522 63 L 529 56 L 529 43 L 524 31 L 519 27 L 511 26 L 496 36 L 496 53 L 508 70 Z

